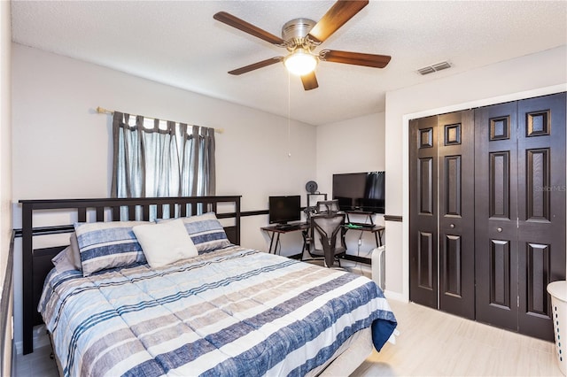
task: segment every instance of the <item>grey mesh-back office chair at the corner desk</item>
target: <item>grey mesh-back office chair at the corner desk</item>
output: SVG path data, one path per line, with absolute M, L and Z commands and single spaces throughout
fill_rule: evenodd
M 312 257 L 324 257 L 325 265 L 332 267 L 335 260 L 340 266 L 340 255 L 346 254 L 345 214 L 328 213 L 311 217 L 311 247 L 308 252 Z

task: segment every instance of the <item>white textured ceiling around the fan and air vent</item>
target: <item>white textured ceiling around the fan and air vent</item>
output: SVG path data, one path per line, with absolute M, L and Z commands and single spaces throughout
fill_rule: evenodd
M 384 69 L 321 62 L 304 91 L 283 56 L 213 19 L 229 12 L 281 35 L 290 19 L 319 20 L 334 1 L 12 1 L 14 42 L 320 125 L 384 111 L 384 93 L 567 43 L 565 1 L 370 1 L 316 51 L 391 55 Z M 418 68 L 453 67 L 421 76 Z M 288 99 L 289 109 L 288 109 Z

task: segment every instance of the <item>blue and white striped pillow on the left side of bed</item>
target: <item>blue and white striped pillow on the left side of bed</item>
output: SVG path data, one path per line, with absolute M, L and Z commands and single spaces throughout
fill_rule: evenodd
M 74 224 L 81 254 L 82 275 L 87 277 L 108 268 L 146 263 L 144 251 L 132 227 L 148 223 L 109 221 Z

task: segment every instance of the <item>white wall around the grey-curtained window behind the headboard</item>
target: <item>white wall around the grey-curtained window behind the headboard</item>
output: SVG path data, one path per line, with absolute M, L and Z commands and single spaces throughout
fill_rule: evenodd
M 266 112 L 19 44 L 12 58 L 14 201 L 109 196 L 112 117 L 97 106 L 224 128 L 215 137 L 216 193 L 242 195 L 243 211 L 267 210 L 269 195 L 305 201 L 305 183 L 315 177 L 313 126 L 291 121 L 288 132 L 287 119 Z M 268 216 L 244 218 L 241 243 L 268 250 L 265 225 Z M 20 265 L 15 280 L 19 313 Z

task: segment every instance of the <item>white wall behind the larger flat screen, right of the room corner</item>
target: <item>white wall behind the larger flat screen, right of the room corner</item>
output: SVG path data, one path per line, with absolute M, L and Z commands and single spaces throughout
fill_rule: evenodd
M 317 127 L 318 190 L 332 198 L 332 176 L 335 173 L 377 172 L 385 168 L 385 114 L 377 112 Z M 386 173 L 386 181 L 388 180 Z M 386 201 L 388 193 L 386 192 Z M 364 216 L 351 216 L 353 221 L 365 221 Z M 374 215 L 376 224 L 384 225 L 384 216 Z M 385 235 L 384 235 L 385 236 Z M 359 247 L 358 240 L 361 239 Z M 384 238 L 385 241 L 385 238 Z M 369 232 L 349 230 L 346 233 L 347 252 L 370 258 L 376 241 Z

